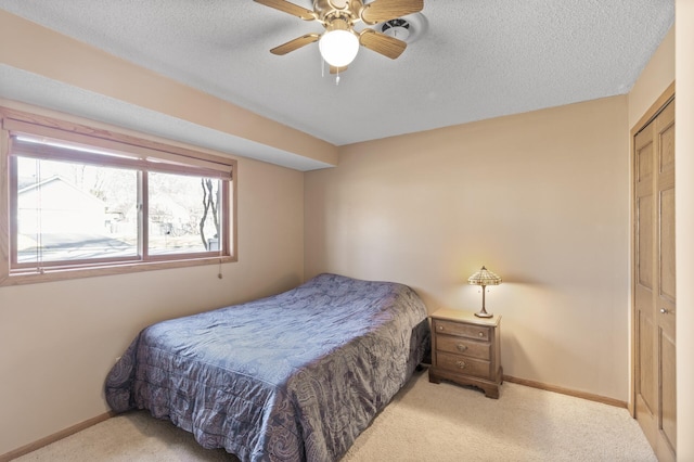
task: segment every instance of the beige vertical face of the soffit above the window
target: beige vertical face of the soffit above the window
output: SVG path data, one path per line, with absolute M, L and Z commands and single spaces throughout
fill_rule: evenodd
M 0 10 L 0 63 L 221 133 L 333 165 L 337 150 L 299 130 Z

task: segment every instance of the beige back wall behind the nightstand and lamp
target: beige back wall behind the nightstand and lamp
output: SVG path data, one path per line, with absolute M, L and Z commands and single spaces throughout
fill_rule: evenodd
M 412 285 L 429 311 L 504 282 L 504 373 L 628 398 L 626 97 L 345 146 L 306 174 L 306 278 Z

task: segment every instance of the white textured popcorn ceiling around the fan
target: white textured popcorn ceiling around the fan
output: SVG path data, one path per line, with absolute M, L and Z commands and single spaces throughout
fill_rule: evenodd
M 424 2 L 398 60 L 362 48 L 339 85 L 316 43 L 269 53 L 320 24 L 252 0 L 0 8 L 336 145 L 627 93 L 674 20 L 673 0 Z

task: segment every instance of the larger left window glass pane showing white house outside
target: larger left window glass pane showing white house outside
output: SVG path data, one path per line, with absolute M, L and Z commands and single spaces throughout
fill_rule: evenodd
M 17 262 L 138 255 L 137 171 L 16 161 Z

